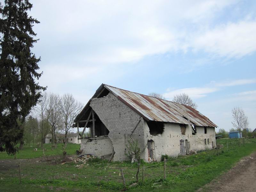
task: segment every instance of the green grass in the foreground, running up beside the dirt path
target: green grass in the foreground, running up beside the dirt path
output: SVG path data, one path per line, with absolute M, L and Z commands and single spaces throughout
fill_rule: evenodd
M 163 163 L 141 163 L 141 166 L 144 164 L 146 167 L 145 182 L 141 182 L 142 172 L 140 172 L 139 185 L 127 191 L 195 191 L 228 171 L 242 157 L 256 151 L 256 139 L 247 139 L 247 143 L 244 146 L 242 144 L 241 147 L 237 145 L 236 140 L 233 142 L 231 139 L 222 139 L 217 142 L 225 146 L 220 149 L 219 156 L 216 150 L 211 150 L 167 160 L 165 180 L 163 180 Z M 76 148 L 68 147 L 74 150 Z M 56 154 L 60 155 L 61 149 L 61 146 L 58 146 L 59 151 L 56 150 Z M 25 153 L 25 150 L 20 151 L 20 155 L 23 152 Z M 27 156 L 32 158 L 34 154 Z M 17 166 L 19 162 L 22 173 L 21 185 Z M 75 167 L 76 164 L 73 162 L 62 165 L 55 162 L 37 162 L 35 159 L 1 160 L 0 166 L 0 191 L 120 191 L 123 189 L 120 169 L 124 169 L 127 185 L 136 181 L 137 171 L 137 164 L 108 163 L 100 159 L 94 159 L 84 164 L 82 168 Z M 154 187 L 154 183 L 161 187 Z

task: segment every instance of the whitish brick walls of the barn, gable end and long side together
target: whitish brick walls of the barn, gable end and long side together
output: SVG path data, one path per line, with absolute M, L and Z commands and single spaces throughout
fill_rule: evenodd
M 94 98 L 91 101 L 90 106 L 99 116 L 100 120 L 109 130 L 108 144 L 104 144 L 104 150 L 112 153 L 114 148 L 116 154 L 114 161 L 127 160 L 127 156 L 124 155 L 126 145 L 128 141 L 138 140 L 138 144 L 141 150 L 141 158 L 148 161 L 148 140 L 154 141 L 154 159 L 161 160 L 162 155 L 178 156 L 180 155 L 180 140 L 190 141 L 190 150 L 203 150 L 211 149 L 212 141 L 215 147 L 215 129 L 207 128 L 207 134 L 204 134 L 204 127 L 197 127 L 197 134 L 192 135 L 191 125 L 187 125 L 185 135 L 181 134 L 180 125 L 175 123 L 165 123 L 163 134 L 157 136 L 151 136 L 146 121 L 140 117 L 131 108 L 126 106 L 122 101 L 116 98 L 112 93 L 109 93 L 103 98 Z M 204 139 L 209 138 L 210 142 L 204 144 Z M 99 156 L 106 155 L 100 154 L 102 151 L 102 143 L 87 142 L 88 139 L 83 139 L 81 143 L 81 149 L 84 149 L 83 153 L 97 153 Z M 185 142 L 184 142 L 185 143 Z M 87 149 L 89 148 L 89 149 Z

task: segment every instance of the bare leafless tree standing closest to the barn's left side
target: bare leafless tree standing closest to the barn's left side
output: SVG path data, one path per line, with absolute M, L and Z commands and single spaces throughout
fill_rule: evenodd
M 64 125 L 62 130 L 65 131 L 65 148 L 67 147 L 67 135 L 72 130 L 74 119 L 82 108 L 82 103 L 78 102 L 72 94 L 66 93 L 61 97 L 60 111 L 61 120 Z

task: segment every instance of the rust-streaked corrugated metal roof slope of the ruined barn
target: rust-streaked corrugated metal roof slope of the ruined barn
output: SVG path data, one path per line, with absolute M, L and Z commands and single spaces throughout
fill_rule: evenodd
M 146 120 L 217 127 L 206 116 L 187 105 L 126 91 L 106 84 L 104 87 Z

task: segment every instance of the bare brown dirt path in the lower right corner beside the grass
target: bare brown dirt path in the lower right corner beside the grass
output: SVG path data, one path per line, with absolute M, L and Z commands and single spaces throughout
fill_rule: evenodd
M 244 157 L 230 171 L 212 180 L 198 191 L 256 191 L 256 152 Z

